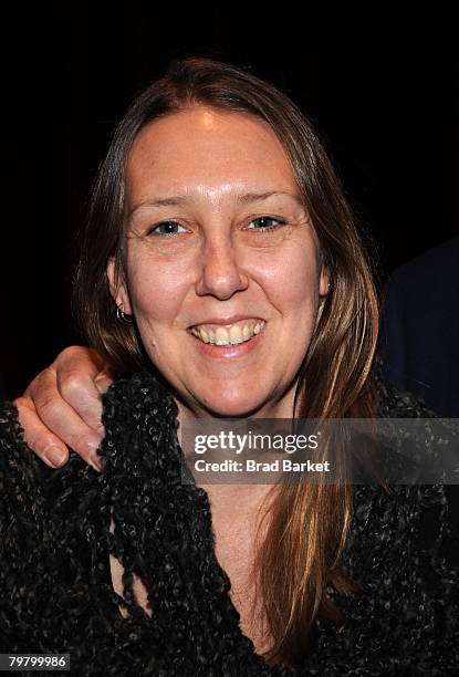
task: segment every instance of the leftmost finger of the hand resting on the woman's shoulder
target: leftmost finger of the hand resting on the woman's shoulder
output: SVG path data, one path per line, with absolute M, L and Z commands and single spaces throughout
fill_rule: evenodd
M 51 468 L 59 468 L 66 464 L 67 448 L 41 423 L 33 402 L 28 397 L 18 397 L 13 404 L 18 409 L 19 423 L 24 430 L 24 439 L 36 456 Z

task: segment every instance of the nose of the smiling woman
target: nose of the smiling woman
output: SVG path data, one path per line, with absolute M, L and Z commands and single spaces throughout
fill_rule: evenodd
M 237 252 L 230 241 L 208 241 L 202 249 L 199 268 L 196 282 L 199 296 L 211 294 L 225 301 L 249 285 L 249 278 L 238 264 Z

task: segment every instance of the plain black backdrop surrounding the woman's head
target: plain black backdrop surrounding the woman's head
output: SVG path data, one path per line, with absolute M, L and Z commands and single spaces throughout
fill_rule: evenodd
M 9 397 L 79 342 L 70 267 L 88 188 L 131 97 L 173 56 L 248 66 L 310 114 L 375 240 L 383 283 L 459 232 L 457 11 L 375 4 L 9 8 L 0 365 Z

